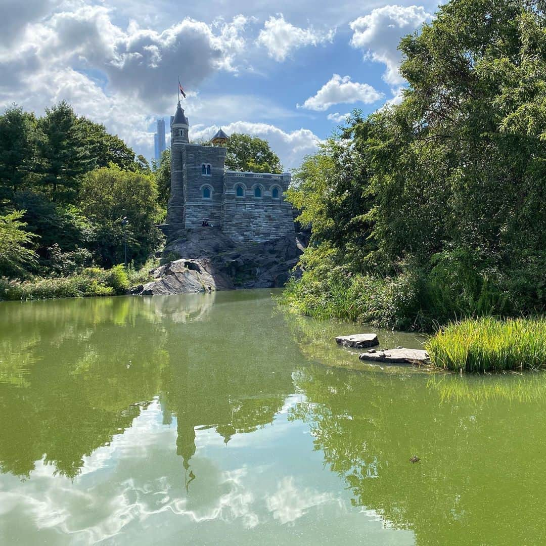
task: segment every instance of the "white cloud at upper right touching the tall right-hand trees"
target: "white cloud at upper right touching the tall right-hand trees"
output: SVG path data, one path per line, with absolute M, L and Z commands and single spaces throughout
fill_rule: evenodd
M 366 56 L 387 66 L 383 79 L 391 85 L 403 82 L 399 73 L 400 39 L 418 29 L 432 17 L 423 6 L 385 5 L 351 22 L 351 45 L 364 49 Z

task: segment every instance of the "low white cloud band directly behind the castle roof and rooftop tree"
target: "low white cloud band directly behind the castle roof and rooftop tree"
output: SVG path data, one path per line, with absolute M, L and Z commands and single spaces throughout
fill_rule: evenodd
M 267 140 L 273 150 L 280 158 L 285 169 L 299 167 L 304 156 L 314 153 L 318 149 L 321 139 L 309 129 L 296 129 L 286 132 L 268 123 L 250 123 L 247 121 L 236 121 L 222 126 L 222 129 L 229 135 L 232 133 L 247 133 Z M 205 128 L 189 129 L 189 138 L 192 140 L 210 139 L 218 130 L 214 125 Z

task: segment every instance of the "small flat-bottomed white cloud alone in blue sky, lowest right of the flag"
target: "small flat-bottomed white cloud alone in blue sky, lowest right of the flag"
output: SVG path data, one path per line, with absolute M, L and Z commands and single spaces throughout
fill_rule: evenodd
M 309 97 L 298 108 L 324 111 L 334 104 L 353 104 L 363 102 L 370 104 L 383 98 L 383 93 L 376 91 L 371 85 L 351 81 L 350 76 L 334 74 L 314 95 Z

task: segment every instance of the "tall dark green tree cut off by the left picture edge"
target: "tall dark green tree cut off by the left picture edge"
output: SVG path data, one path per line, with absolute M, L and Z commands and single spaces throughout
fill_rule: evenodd
M 36 119 L 14 104 L 0 116 L 0 199 L 10 199 L 35 179 L 36 167 Z

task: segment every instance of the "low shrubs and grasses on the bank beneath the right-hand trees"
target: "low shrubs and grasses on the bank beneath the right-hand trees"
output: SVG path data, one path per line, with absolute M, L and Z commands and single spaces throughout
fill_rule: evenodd
M 354 274 L 328 260 L 290 281 L 279 302 L 309 317 L 417 331 L 461 317 L 519 312 L 507 291 L 472 270 L 405 267 L 397 275 L 378 276 Z

